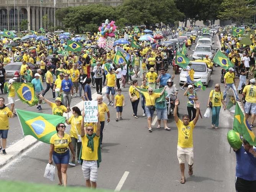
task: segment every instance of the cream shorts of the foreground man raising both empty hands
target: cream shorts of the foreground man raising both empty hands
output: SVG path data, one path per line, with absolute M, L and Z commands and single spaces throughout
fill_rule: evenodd
M 177 146 L 177 157 L 179 160 L 179 164 L 185 163 L 185 161 L 187 161 L 189 165 L 193 165 L 194 163 L 193 147 L 183 148 L 183 147 Z

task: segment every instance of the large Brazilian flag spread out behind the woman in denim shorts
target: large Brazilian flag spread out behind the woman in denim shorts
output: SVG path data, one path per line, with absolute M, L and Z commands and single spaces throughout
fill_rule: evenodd
M 58 123 L 65 123 L 66 118 L 45 113 L 36 113 L 16 109 L 23 135 L 31 135 L 39 141 L 50 144 L 51 137 L 56 133 Z

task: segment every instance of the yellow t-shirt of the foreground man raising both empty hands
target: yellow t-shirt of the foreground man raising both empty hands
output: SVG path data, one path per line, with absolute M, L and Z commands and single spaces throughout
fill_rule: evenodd
M 176 123 L 178 128 L 178 146 L 193 147 L 193 129 L 195 127 L 193 121 L 190 121 L 187 126 L 183 124 L 181 119 Z

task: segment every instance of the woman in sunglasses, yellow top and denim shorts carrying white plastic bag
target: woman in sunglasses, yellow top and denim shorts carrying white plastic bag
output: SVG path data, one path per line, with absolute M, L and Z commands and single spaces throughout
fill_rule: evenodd
M 49 152 L 49 164 L 54 163 L 57 167 L 59 184 L 64 187 L 67 186 L 67 165 L 69 163 L 69 148 L 72 153 L 72 159 L 75 159 L 75 153 L 73 145 L 71 142 L 71 137 L 69 134 L 66 134 L 64 131 L 66 125 L 64 123 L 59 123 L 56 126 L 57 133 L 54 134 L 50 139 L 50 152 Z M 53 160 L 52 160 L 53 158 Z

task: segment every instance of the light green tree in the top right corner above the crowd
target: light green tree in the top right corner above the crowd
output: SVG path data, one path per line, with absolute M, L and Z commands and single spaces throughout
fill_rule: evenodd
M 218 18 L 230 19 L 240 25 L 254 14 L 254 0 L 224 0 L 221 4 L 221 10 L 218 12 Z

